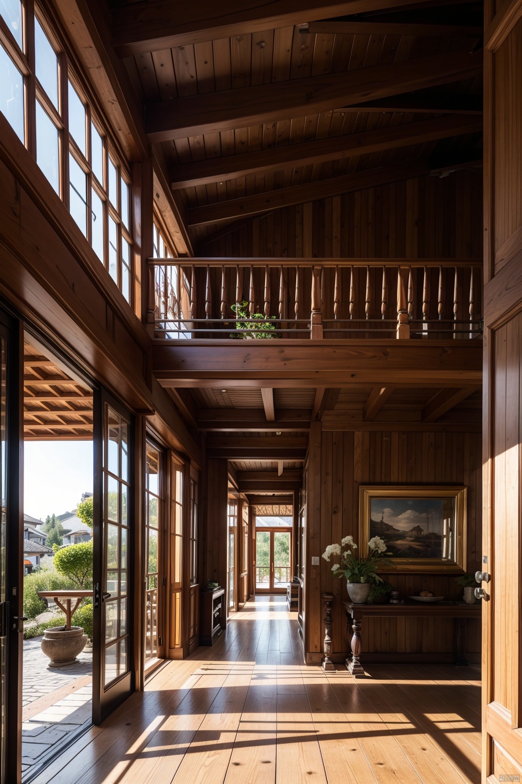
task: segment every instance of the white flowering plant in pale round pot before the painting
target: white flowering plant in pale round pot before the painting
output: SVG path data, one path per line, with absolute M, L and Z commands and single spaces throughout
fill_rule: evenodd
M 346 550 L 344 550 L 346 548 Z M 350 549 L 351 548 L 351 549 Z M 368 555 L 358 557 L 355 554 L 357 545 L 351 536 L 344 536 L 340 545 L 329 544 L 322 554 L 325 561 L 332 555 L 340 556 L 340 564 L 333 564 L 333 577 L 346 577 L 348 596 L 354 604 L 365 604 L 373 585 L 383 583 L 382 577 L 376 574 L 381 565 L 392 566 L 391 561 L 383 557 L 386 545 L 380 536 L 373 536 L 368 543 Z

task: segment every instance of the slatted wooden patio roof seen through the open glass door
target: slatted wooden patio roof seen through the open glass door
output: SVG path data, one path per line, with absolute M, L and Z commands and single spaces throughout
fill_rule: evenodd
M 92 390 L 28 340 L 23 343 L 23 437 L 26 441 L 92 439 Z

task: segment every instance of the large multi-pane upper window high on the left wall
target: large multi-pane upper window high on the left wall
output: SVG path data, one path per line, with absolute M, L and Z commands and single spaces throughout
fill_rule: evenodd
M 29 16 L 20 0 L 0 0 L 0 33 L 0 111 L 132 304 L 128 169 L 44 14 Z M 27 122 L 33 109 L 34 138 Z

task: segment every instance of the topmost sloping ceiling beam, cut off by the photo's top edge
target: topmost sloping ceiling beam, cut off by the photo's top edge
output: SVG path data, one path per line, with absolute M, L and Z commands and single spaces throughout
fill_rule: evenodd
M 231 38 L 311 20 L 363 11 L 418 5 L 419 0 L 199 0 L 197 3 L 156 0 L 128 3 L 112 10 L 113 46 L 121 57 Z M 330 23 L 331 24 L 331 23 Z

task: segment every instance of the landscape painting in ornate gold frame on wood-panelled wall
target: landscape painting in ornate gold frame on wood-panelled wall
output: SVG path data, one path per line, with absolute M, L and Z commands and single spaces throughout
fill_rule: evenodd
M 363 485 L 359 489 L 359 546 L 373 536 L 387 546 L 394 567 L 380 572 L 466 572 L 466 488 L 448 485 Z

